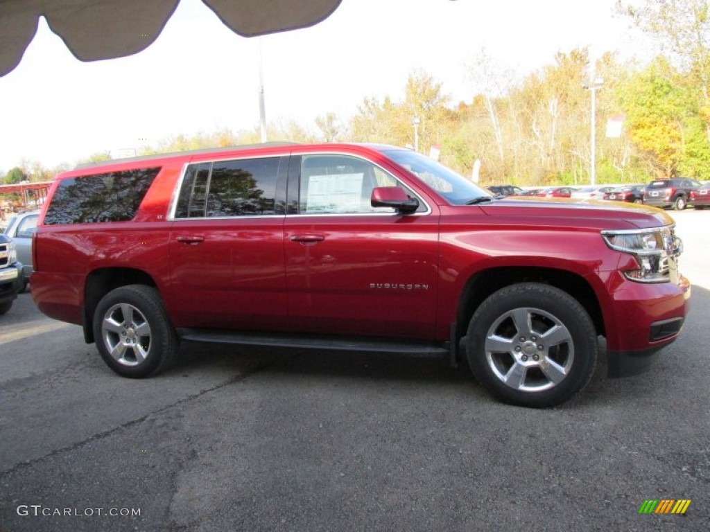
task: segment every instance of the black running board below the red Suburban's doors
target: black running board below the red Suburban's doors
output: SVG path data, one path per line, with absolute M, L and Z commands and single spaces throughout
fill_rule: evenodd
M 263 345 L 280 348 L 327 349 L 338 351 L 372 351 L 409 355 L 449 355 L 449 343 L 417 342 L 356 336 L 305 336 L 280 333 L 241 333 L 212 329 L 178 328 L 182 340 L 235 345 Z

